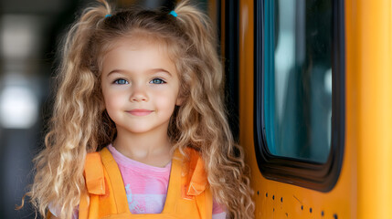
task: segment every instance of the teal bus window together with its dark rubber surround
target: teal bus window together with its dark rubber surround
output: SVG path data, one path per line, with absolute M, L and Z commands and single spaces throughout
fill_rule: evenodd
M 257 2 L 255 145 L 265 163 L 261 169 L 268 175 L 270 165 L 288 165 L 295 167 L 290 174 L 271 169 L 282 169 L 285 178 L 306 170 L 304 177 L 317 184 L 332 174 L 331 167 L 339 172 L 343 153 L 343 4 Z

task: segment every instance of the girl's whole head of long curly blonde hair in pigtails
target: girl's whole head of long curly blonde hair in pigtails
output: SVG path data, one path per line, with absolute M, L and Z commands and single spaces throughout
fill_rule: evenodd
M 189 1 L 167 12 L 127 9 L 112 12 L 104 0 L 87 8 L 65 38 L 53 116 L 45 149 L 35 159 L 37 174 L 31 203 L 45 215 L 59 206 L 70 218 L 86 193 L 86 154 L 113 141 L 115 124 L 101 94 L 101 57 L 114 42 L 133 34 L 149 36 L 167 46 L 180 73 L 180 97 L 168 135 L 173 149 L 191 147 L 205 161 L 207 179 L 218 203 L 232 218 L 254 218 L 249 170 L 233 140 L 224 107 L 224 75 L 217 55 L 217 36 L 208 17 Z M 107 16 L 106 15 L 111 15 Z

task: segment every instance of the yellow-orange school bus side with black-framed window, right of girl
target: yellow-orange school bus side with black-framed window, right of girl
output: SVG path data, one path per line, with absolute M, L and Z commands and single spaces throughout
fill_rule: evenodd
M 256 218 L 392 218 L 392 1 L 220 12 Z

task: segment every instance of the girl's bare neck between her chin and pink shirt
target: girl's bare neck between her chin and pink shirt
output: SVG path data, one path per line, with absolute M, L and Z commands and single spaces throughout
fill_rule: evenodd
M 151 130 L 147 133 L 118 129 L 113 147 L 134 161 L 158 167 L 164 167 L 172 157 L 166 129 Z

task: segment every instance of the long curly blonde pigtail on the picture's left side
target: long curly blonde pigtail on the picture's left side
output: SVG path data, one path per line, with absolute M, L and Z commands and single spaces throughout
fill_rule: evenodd
M 111 14 L 110 6 L 100 2 L 82 13 L 64 41 L 46 148 L 34 161 L 37 174 L 27 193 L 41 215 L 47 214 L 50 205 L 58 210 L 59 218 L 71 218 L 80 194 L 85 193 L 86 153 L 97 149 L 97 136 L 102 132 L 97 118 L 102 114 L 100 81 L 91 70 L 89 53 L 94 32 Z

